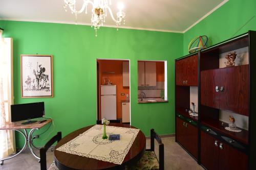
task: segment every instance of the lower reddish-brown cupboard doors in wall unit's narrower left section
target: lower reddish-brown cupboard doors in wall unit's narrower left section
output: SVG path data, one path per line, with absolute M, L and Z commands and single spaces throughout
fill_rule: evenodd
M 193 120 L 188 120 L 193 122 Z M 196 159 L 198 159 L 198 130 L 194 125 L 176 117 L 177 141 Z

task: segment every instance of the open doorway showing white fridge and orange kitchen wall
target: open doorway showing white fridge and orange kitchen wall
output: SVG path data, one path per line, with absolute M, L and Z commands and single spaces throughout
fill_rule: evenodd
M 97 119 L 131 124 L 130 60 L 97 59 Z

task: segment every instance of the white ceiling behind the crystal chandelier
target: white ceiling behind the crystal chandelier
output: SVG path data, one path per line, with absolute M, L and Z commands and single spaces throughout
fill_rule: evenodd
M 83 0 L 76 0 L 77 8 Z M 202 18 L 228 0 L 112 0 L 112 10 L 117 3 L 124 4 L 125 25 L 122 28 L 185 32 Z M 75 24 L 70 10 L 65 12 L 63 0 L 0 0 L 0 19 Z M 88 8 L 91 10 L 91 6 Z M 88 10 L 88 12 L 90 11 Z M 81 13 L 77 22 L 90 25 L 91 13 Z M 115 27 L 108 16 L 105 26 Z

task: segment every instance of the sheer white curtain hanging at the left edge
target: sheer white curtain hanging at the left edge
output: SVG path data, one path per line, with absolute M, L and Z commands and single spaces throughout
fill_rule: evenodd
M 10 105 L 13 104 L 12 39 L 3 38 L 0 30 L 0 127 L 11 122 Z M 15 152 L 14 134 L 0 130 L 0 159 Z

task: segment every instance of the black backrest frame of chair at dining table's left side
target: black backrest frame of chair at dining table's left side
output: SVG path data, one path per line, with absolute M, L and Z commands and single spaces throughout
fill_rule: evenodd
M 46 163 L 46 151 L 55 143 L 56 141 L 59 142 L 61 139 L 61 132 L 58 132 L 55 136 L 53 136 L 44 147 L 40 149 L 40 166 L 41 170 L 47 169 L 47 163 Z

